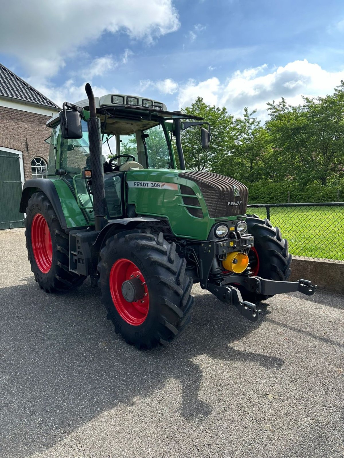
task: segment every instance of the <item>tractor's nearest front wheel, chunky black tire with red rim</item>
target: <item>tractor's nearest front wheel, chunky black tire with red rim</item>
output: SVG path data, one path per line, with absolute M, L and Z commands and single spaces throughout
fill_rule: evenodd
M 183 333 L 194 304 L 193 280 L 185 267 L 175 243 L 162 233 L 132 230 L 106 240 L 98 264 L 101 300 L 116 333 L 128 344 L 151 349 Z

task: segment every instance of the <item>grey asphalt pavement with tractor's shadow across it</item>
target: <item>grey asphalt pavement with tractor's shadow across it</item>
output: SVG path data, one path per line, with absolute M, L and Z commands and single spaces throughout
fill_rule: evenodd
M 252 323 L 195 286 L 182 337 L 139 351 L 88 281 L 39 289 L 22 229 L 0 253 L 1 458 L 344 457 L 344 296 Z

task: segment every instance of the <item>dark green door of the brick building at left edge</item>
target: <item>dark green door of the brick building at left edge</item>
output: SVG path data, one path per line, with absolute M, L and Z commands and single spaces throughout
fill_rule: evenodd
M 0 229 L 24 226 L 24 215 L 19 212 L 21 195 L 19 155 L 0 148 Z

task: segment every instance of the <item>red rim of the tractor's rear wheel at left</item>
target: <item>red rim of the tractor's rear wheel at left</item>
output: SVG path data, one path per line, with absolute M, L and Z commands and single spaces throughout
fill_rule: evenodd
M 48 223 L 40 213 L 32 220 L 31 244 L 37 267 L 41 272 L 48 273 L 53 262 L 53 247 Z

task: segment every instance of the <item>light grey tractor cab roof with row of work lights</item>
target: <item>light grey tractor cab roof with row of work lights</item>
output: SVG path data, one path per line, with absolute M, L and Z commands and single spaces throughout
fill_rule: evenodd
M 76 102 L 75 105 L 89 109 L 89 100 L 87 98 Z M 167 111 L 166 105 L 157 100 L 137 97 L 125 94 L 106 94 L 102 97 L 95 97 L 95 107 L 97 113 L 101 114 L 106 109 L 115 109 L 116 112 L 125 113 L 130 118 L 131 115 L 137 117 L 139 113 L 151 113 L 166 119 L 196 119 L 203 120 L 199 116 L 183 114 L 180 111 Z M 51 127 L 59 119 L 59 114 L 55 114 L 47 123 Z

